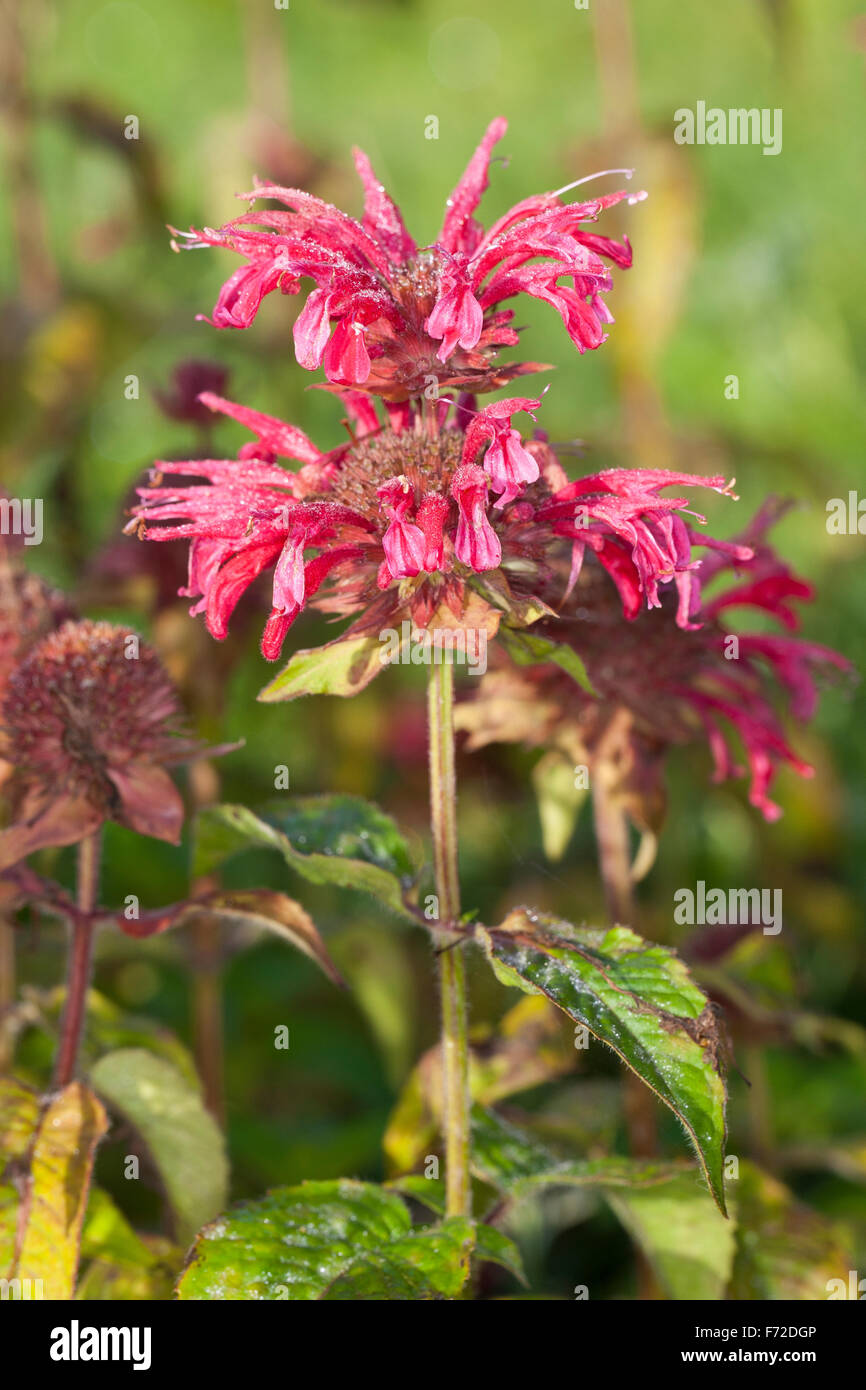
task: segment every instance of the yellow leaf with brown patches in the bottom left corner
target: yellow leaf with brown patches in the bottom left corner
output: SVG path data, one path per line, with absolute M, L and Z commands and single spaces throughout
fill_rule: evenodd
M 68 1300 L 75 1291 L 81 1229 L 96 1145 L 106 1112 L 81 1081 L 64 1087 L 42 1113 L 19 1213 L 14 1275 L 42 1282 L 42 1295 Z

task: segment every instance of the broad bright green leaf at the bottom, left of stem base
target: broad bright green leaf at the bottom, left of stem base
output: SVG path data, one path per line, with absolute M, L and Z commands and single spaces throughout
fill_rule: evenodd
M 414 1229 L 406 1204 L 349 1179 L 282 1187 L 206 1226 L 179 1298 L 457 1298 L 474 1229 L 461 1218 Z

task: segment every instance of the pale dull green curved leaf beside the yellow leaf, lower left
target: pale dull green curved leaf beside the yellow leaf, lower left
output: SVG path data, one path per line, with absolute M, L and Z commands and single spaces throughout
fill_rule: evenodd
M 160 1172 L 181 1241 L 222 1209 L 228 1163 L 222 1134 L 197 1088 L 171 1062 L 124 1048 L 100 1058 L 93 1087 L 142 1136 Z

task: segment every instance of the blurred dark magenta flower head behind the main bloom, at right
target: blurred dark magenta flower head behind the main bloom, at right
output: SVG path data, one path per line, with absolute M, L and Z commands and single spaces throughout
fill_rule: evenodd
M 557 666 L 518 669 L 500 660 L 475 698 L 457 709 L 470 746 L 556 748 L 589 769 L 603 758 L 616 763 L 619 792 L 635 824 L 657 828 L 663 759 L 671 745 L 705 742 L 714 781 L 723 781 L 744 774 L 740 744 L 749 801 L 776 820 L 781 809 L 769 790 L 777 769 L 788 764 L 802 777 L 812 776 L 790 746 L 776 694 L 781 689 L 790 714 L 805 721 L 815 713 L 817 676 L 851 670 L 838 652 L 790 635 L 799 626 L 791 599 L 809 600 L 813 591 L 765 541 L 778 512 L 777 505 L 767 505 L 741 538 L 740 550 L 717 549 L 703 562 L 705 584 L 730 569 L 740 571 L 738 580 L 701 602 L 692 613 L 696 621 L 685 627 L 670 621 L 670 592 L 662 594 L 659 610 L 623 621 L 601 567 L 588 564 L 557 621 L 542 621 L 534 631 L 580 653 L 598 699 Z M 751 557 L 744 559 L 744 550 Z M 735 607 L 766 613 L 788 631 L 734 631 L 727 614 Z

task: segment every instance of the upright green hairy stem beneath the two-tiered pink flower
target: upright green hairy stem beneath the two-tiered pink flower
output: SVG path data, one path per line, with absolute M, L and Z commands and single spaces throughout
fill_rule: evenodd
M 442 997 L 442 1129 L 449 1216 L 471 1215 L 468 1168 L 468 1029 L 466 962 L 460 937 L 457 876 L 457 784 L 455 777 L 455 677 L 450 663 L 430 667 L 427 716 L 430 733 L 430 824 L 434 845 L 439 924 L 448 931 L 439 951 Z

